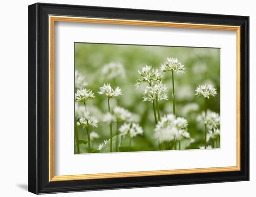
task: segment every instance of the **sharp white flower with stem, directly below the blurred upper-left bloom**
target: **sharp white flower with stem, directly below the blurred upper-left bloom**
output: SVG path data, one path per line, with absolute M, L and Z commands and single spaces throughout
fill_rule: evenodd
M 110 113 L 110 114 L 111 114 L 111 110 L 110 110 L 109 100 L 115 96 L 123 95 L 122 91 L 119 87 L 112 89 L 112 87 L 109 83 L 104 84 L 100 88 L 100 91 L 98 93 L 100 95 L 106 95 L 108 97 L 108 113 Z M 110 127 L 110 153 L 112 153 L 112 146 L 113 146 L 112 121 L 109 123 L 109 127 Z

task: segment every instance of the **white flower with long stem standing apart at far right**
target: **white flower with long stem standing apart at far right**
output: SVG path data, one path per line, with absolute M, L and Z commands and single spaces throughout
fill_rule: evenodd
M 195 89 L 195 95 L 197 95 L 198 97 L 203 97 L 205 98 L 205 120 L 207 120 L 207 99 L 209 99 L 210 97 L 214 97 L 215 95 L 217 95 L 217 91 L 216 88 L 214 88 L 213 85 L 211 84 L 204 84 L 204 85 L 200 85 L 199 87 L 197 87 Z M 206 148 L 207 146 L 207 123 L 204 122 L 204 147 Z

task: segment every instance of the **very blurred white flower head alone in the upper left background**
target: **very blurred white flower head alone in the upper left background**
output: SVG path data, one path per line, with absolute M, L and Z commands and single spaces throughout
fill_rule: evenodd
M 116 77 L 124 78 L 125 77 L 125 69 L 122 64 L 111 62 L 106 64 L 102 68 L 102 76 L 111 80 Z

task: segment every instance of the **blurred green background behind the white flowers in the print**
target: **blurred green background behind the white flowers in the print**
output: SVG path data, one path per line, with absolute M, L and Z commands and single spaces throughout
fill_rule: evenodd
M 138 89 L 134 86 L 139 78 L 137 70 L 150 65 L 159 69 L 167 57 L 177 57 L 185 65 L 184 74 L 175 73 L 175 98 L 176 115 L 188 120 L 188 132 L 194 142 L 189 143 L 186 149 L 197 149 L 204 145 L 204 125 L 198 122 L 197 116 L 204 111 L 204 98 L 195 95 L 197 86 L 210 83 L 217 89 L 217 95 L 208 101 L 208 109 L 220 113 L 220 49 L 216 48 L 192 48 L 146 45 L 121 45 L 121 44 L 88 44 L 75 43 L 75 70 L 85 76 L 88 83 L 87 89 L 93 90 L 96 97 L 88 101 L 89 111 L 99 120 L 98 127 L 91 129 L 99 134 L 94 139 L 91 148 L 97 152 L 99 143 L 108 140 L 109 126 L 101 121 L 102 115 L 108 111 L 107 97 L 99 95 L 98 91 L 104 83 L 111 83 L 112 87 L 119 86 L 123 96 L 118 96 L 118 101 L 110 100 L 111 108 L 117 104 L 128 109 L 136 115 L 138 123 L 143 128 L 143 135 L 132 139 L 131 151 L 158 150 L 158 144 L 154 139 L 154 113 L 151 102 L 142 102 L 142 92 L 146 84 Z M 108 80 L 102 74 L 102 67 L 111 62 L 121 63 L 125 69 L 125 76 Z M 172 113 L 172 78 L 171 72 L 164 74 L 163 83 L 168 87 L 167 101 L 160 101 L 161 116 Z M 115 133 L 115 124 L 113 124 Z M 87 135 L 82 127 L 78 129 L 78 138 L 86 139 Z M 124 138 L 120 152 L 127 151 L 128 139 Z M 80 145 L 81 153 L 88 153 L 88 145 Z M 75 153 L 77 150 L 75 148 Z

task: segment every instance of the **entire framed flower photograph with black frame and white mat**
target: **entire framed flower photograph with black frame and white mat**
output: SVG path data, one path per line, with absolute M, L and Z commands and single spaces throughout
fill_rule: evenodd
M 28 191 L 249 180 L 249 17 L 28 6 Z

